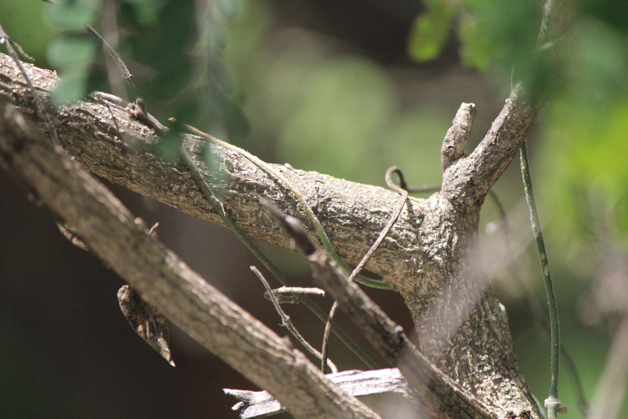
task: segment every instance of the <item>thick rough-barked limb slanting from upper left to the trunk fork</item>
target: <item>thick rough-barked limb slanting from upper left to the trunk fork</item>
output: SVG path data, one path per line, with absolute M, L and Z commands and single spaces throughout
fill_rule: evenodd
M 48 93 L 58 79 L 55 73 L 24 64 L 33 84 Z M 35 116 L 33 96 L 19 75 L 13 60 L 0 54 L 0 96 L 31 116 L 44 131 L 46 127 Z M 53 115 L 63 147 L 92 171 L 135 192 L 153 197 L 209 222 L 223 225 L 212 205 L 198 188 L 184 166 L 173 167 L 147 150 L 156 144 L 154 131 L 129 118 L 123 107 L 95 99 L 62 106 Z M 185 136 L 187 144 L 199 153 L 205 140 Z M 222 190 L 230 216 L 242 231 L 264 241 L 290 248 L 290 239 L 260 211 L 258 199 L 266 196 L 286 214 L 299 217 L 311 229 L 303 209 L 281 183 L 234 150 L 212 144 L 207 179 L 215 190 Z M 199 159 L 202 160 L 202 159 Z M 393 211 L 398 195 L 392 191 L 333 178 L 315 172 L 295 170 L 289 165 L 271 165 L 301 191 L 321 220 L 330 241 L 348 263 L 357 264 L 369 249 Z M 219 169 L 219 170 L 216 170 Z M 367 269 L 381 275 L 391 285 L 401 276 L 404 263 L 399 255 L 418 251 L 416 237 L 418 214 L 423 200 L 408 200 Z

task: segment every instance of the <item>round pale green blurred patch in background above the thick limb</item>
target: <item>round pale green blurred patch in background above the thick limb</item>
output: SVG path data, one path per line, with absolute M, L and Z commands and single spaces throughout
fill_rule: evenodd
M 385 134 L 393 107 L 386 75 L 359 58 L 343 58 L 311 68 L 297 89 L 292 93 L 301 100 L 284 115 L 280 157 L 306 170 L 324 160 L 332 173 L 348 178 L 371 166 L 369 149 Z

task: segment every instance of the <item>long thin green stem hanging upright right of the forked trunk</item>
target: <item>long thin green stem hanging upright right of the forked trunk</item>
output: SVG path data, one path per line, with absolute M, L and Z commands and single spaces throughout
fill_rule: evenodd
M 550 367 L 551 367 L 551 384 L 549 386 L 549 396 L 545 401 L 548 410 L 548 418 L 556 419 L 556 411 L 560 408 L 560 400 L 558 400 L 558 357 L 560 355 L 560 330 L 558 326 L 558 307 L 556 306 L 556 296 L 554 295 L 554 287 L 551 282 L 549 273 L 549 264 L 545 244 L 543 242 L 543 233 L 541 232 L 541 223 L 539 222 L 539 214 L 536 210 L 534 202 L 534 191 L 532 189 L 532 178 L 530 176 L 530 168 L 528 161 L 528 145 L 524 141 L 521 146 L 521 175 L 526 190 L 526 200 L 530 209 L 530 220 L 532 222 L 532 231 L 536 241 L 536 248 L 539 252 L 539 261 L 541 262 L 541 270 L 543 271 L 543 283 L 545 285 L 545 294 L 549 307 L 549 327 L 551 340 L 550 351 Z

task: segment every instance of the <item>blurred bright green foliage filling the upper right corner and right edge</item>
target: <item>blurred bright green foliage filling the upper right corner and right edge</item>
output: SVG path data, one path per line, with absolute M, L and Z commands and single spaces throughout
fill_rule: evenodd
M 529 89 L 551 94 L 542 147 L 552 158 L 543 159 L 539 175 L 551 180 L 541 189 L 550 205 L 561 209 L 555 221 L 565 231 L 581 224 L 579 202 L 583 195 L 593 194 L 612 206 L 625 236 L 628 165 L 617 156 L 628 144 L 628 6 L 611 0 L 585 1 L 582 6 L 582 17 L 564 36 L 568 42 L 547 45 L 549 50 L 569 48 L 560 68 L 549 67 L 536 50 L 541 8 L 526 0 L 426 1 L 427 9 L 409 35 L 409 51 L 419 62 L 436 59 L 444 38 L 458 26 L 465 65 L 482 72 L 489 72 L 491 63 L 502 72 L 514 66 L 514 82 L 523 80 Z M 590 219 L 590 214 L 584 218 Z M 573 238 L 588 239 L 582 234 L 569 240 Z

